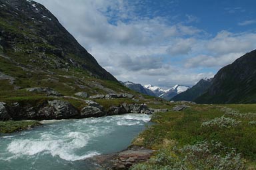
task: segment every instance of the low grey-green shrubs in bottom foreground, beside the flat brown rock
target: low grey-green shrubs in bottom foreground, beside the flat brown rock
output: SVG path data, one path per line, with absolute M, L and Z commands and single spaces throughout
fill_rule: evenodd
M 181 149 L 160 149 L 147 163 L 133 165 L 131 170 L 175 169 L 245 169 L 241 155 L 235 149 L 223 147 L 219 142 L 202 141 L 185 145 Z

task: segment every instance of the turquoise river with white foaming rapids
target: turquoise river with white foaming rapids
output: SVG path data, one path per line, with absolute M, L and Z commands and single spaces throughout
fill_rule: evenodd
M 149 120 L 144 114 L 45 120 L 31 130 L 1 134 L 0 169 L 94 169 L 81 160 L 125 149 Z

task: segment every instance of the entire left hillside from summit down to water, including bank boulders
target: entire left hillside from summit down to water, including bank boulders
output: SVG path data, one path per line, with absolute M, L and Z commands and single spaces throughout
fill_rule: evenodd
M 143 103 L 43 5 L 0 4 L 0 120 L 98 117 L 131 112 L 129 104 Z

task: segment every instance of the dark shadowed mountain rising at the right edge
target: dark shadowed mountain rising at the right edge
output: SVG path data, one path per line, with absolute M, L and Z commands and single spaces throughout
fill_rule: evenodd
M 209 90 L 195 99 L 203 104 L 256 102 L 256 50 L 229 64 L 214 76 Z

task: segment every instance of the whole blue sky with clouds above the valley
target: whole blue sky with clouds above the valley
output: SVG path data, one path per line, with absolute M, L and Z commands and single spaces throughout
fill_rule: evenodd
M 36 0 L 117 80 L 193 86 L 256 49 L 254 0 Z

